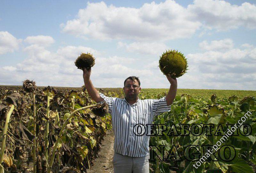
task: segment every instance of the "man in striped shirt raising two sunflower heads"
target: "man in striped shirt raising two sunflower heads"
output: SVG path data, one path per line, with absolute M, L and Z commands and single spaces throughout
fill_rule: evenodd
M 140 100 L 140 80 L 130 76 L 124 81 L 125 98 L 106 97 L 94 88 L 90 80 L 91 69 L 83 70 L 85 88 L 95 102 L 106 102 L 112 115 L 115 134 L 113 166 L 115 173 L 149 173 L 149 137 L 134 133 L 136 124 L 152 124 L 154 116 L 170 111 L 177 92 L 177 80 L 166 76 L 170 82 L 168 94 L 161 99 Z M 145 132 L 145 130 L 144 130 Z

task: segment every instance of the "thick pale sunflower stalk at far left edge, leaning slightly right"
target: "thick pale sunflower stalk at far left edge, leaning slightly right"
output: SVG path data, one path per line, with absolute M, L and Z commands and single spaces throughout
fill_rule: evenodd
M 10 118 L 11 118 L 13 110 L 14 110 L 14 105 L 11 105 L 11 109 L 7 114 L 5 124 L 4 124 L 4 129 L 3 129 L 3 133 L 2 133 L 2 146 L 1 146 L 1 152 L 0 152 L 0 163 L 2 163 L 4 161 L 6 134 L 7 134 L 7 130 L 8 130 L 8 126 L 9 126 L 9 122 L 10 122 Z M 4 173 L 4 169 L 2 167 L 0 168 L 0 173 Z

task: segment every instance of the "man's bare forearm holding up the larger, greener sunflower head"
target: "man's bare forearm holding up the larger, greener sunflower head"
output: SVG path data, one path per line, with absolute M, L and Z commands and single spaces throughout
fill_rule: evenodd
M 174 98 L 176 97 L 176 93 L 177 93 L 177 79 L 176 78 L 172 78 L 170 75 L 166 75 L 168 81 L 170 82 L 171 86 L 170 86 L 170 90 L 166 95 L 166 102 L 167 105 L 172 105 L 172 102 L 174 100 Z

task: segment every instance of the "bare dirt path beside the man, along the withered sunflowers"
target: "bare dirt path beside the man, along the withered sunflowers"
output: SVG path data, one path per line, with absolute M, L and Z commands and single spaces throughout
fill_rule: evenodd
M 93 166 L 88 169 L 88 173 L 113 173 L 113 156 L 114 156 L 114 132 L 109 130 L 102 141 L 99 157 L 93 161 Z

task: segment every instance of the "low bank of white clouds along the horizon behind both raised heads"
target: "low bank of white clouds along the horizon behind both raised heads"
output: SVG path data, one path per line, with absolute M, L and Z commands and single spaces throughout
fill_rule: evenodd
M 158 61 L 141 60 L 142 63 L 140 59 L 129 57 L 104 57 L 97 50 L 82 46 L 59 47 L 57 51 L 51 52 L 38 45 L 24 48 L 28 54 L 24 61 L 0 68 L 0 81 L 4 81 L 0 84 L 17 85 L 28 78 L 36 81 L 38 86 L 82 86 L 83 72 L 76 68 L 74 61 L 84 50 L 97 55 L 91 75 L 95 87 L 122 87 L 124 79 L 128 76 L 139 76 L 142 88 L 170 86 L 166 76 L 159 70 Z M 186 57 L 189 70 L 178 78 L 178 86 L 195 89 L 254 90 L 255 52 L 255 46 L 248 48 L 245 45 L 243 48 L 232 47 L 226 51 L 205 50 L 204 53 L 188 54 Z

